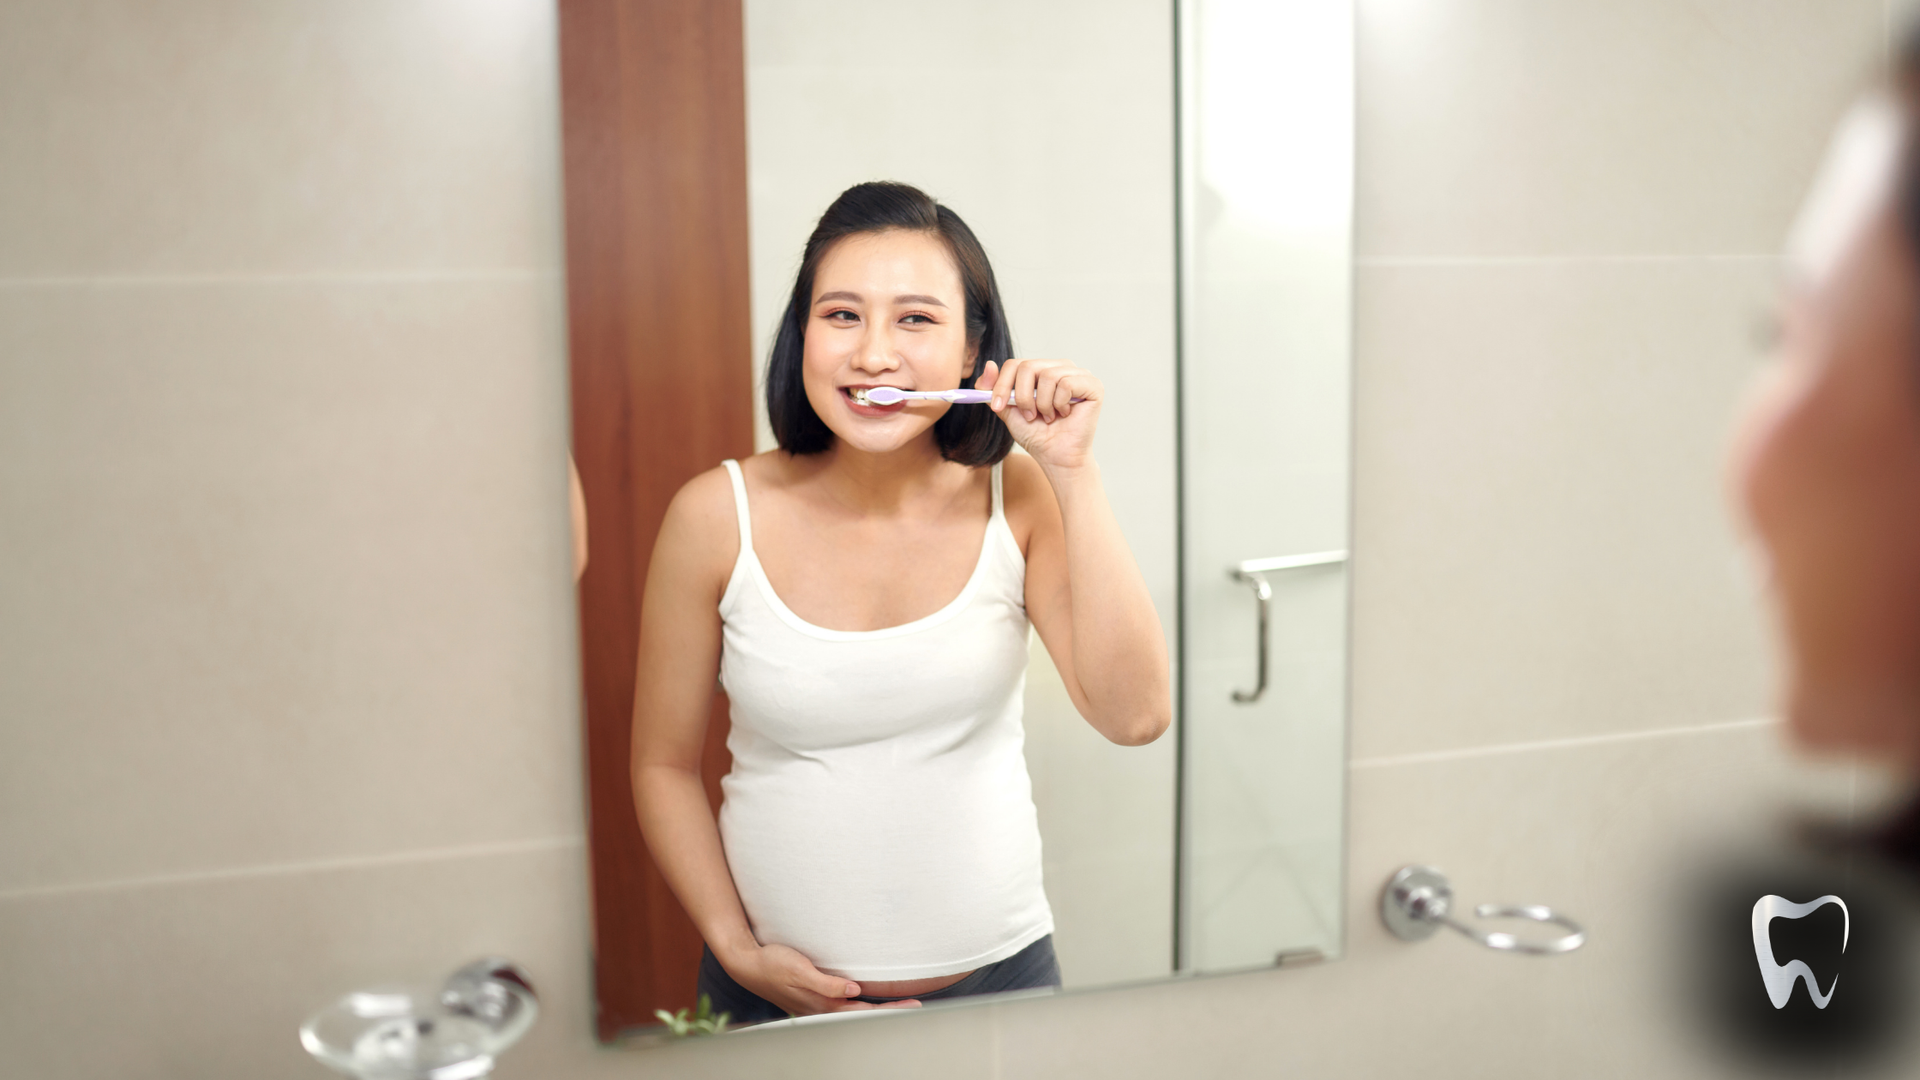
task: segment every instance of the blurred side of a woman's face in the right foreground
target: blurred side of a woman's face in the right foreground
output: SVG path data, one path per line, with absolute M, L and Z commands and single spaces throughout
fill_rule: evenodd
M 1795 734 L 1920 769 L 1920 273 L 1893 202 L 1901 138 L 1884 108 L 1836 142 L 1736 477 Z

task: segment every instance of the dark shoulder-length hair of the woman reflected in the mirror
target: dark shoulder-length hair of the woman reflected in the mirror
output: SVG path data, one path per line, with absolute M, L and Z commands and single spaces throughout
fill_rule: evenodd
M 787 454 L 820 454 L 833 446 L 833 430 L 806 400 L 801 375 L 820 259 L 847 236 L 889 229 L 939 236 L 960 271 L 960 284 L 966 290 L 966 344 L 973 354 L 973 365 L 960 384 L 970 386 L 979 379 L 989 359 L 1004 365 L 1014 356 L 1014 332 L 1006 327 L 1000 286 L 993 281 L 987 252 L 966 221 L 912 184 L 854 184 L 833 200 L 833 206 L 820 215 L 820 225 L 814 225 L 814 234 L 806 238 L 801 273 L 793 279 L 793 296 L 787 298 L 787 311 L 780 317 L 774 352 L 766 357 L 766 419 Z M 947 415 L 933 421 L 933 442 L 941 448 L 941 457 L 962 465 L 995 465 L 1014 448 L 1012 432 L 991 409 L 947 409 Z

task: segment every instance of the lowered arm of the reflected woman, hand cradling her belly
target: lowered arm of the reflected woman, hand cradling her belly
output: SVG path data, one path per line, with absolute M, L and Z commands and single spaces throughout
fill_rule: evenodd
M 737 553 L 726 473 L 695 477 L 660 523 L 639 609 L 632 761 L 639 830 L 714 959 L 741 986 L 789 1013 L 872 1009 L 849 1001 L 858 984 L 818 970 L 795 949 L 755 940 L 701 784 L 720 673 L 720 594 Z

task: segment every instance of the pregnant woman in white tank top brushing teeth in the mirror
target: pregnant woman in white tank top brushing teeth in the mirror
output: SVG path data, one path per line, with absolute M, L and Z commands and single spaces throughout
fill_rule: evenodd
M 866 402 L 879 386 L 993 402 Z M 716 1011 L 1060 984 L 1021 753 L 1029 621 L 1100 734 L 1139 746 L 1171 717 L 1092 459 L 1100 398 L 1081 367 L 1012 357 L 952 209 L 874 183 L 820 217 L 768 359 L 780 450 L 680 490 L 641 609 L 634 801 Z M 716 676 L 718 822 L 699 774 Z

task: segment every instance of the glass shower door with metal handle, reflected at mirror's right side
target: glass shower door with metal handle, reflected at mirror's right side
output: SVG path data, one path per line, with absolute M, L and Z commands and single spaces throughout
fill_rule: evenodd
M 1352 0 L 1181 4 L 1179 967 L 1334 955 Z

